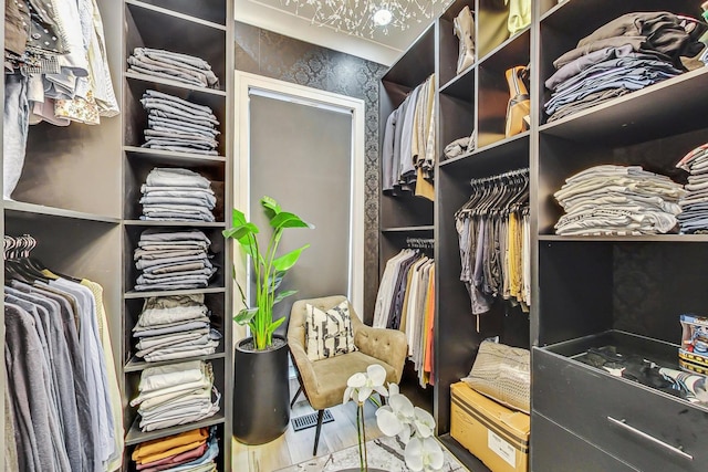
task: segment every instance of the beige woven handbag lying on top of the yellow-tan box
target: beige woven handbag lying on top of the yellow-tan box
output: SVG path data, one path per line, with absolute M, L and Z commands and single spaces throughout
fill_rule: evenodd
M 524 413 L 531 409 L 531 356 L 528 349 L 483 340 L 472 369 L 461 380 L 509 408 Z

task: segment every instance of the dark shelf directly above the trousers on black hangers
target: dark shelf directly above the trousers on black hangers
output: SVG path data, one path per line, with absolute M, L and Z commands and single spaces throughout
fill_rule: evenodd
M 440 162 L 440 169 L 462 174 L 462 170 L 483 169 L 488 175 L 529 167 L 529 136 L 523 132 L 462 156 Z

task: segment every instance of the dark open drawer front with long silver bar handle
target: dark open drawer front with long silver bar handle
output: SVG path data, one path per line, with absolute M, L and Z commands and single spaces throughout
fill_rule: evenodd
M 641 470 L 705 471 L 708 411 L 544 349 L 533 410 Z

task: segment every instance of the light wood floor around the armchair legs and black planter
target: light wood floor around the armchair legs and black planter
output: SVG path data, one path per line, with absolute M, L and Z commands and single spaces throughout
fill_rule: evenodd
M 293 390 L 294 392 L 294 390 Z M 300 396 L 291 411 L 291 418 L 312 413 L 310 403 Z M 322 426 L 317 455 L 341 451 L 356 445 L 356 405 L 350 401 L 330 409 L 334 421 Z M 376 407 L 368 402 L 364 407 L 366 439 L 379 438 L 382 432 L 376 426 Z M 293 431 L 292 424 L 283 436 L 263 445 L 246 445 L 233 440 L 233 472 L 273 472 L 288 465 L 296 464 L 312 458 L 315 428 Z

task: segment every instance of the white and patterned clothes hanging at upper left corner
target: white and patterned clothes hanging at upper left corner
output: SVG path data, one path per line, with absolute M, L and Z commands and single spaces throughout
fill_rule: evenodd
M 3 198 L 18 185 L 29 126 L 97 125 L 119 113 L 96 0 L 6 2 Z

